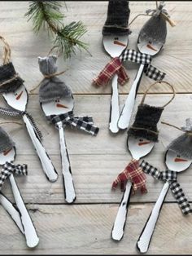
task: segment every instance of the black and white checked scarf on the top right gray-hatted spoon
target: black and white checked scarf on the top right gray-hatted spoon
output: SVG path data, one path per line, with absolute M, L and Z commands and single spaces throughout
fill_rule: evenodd
M 150 77 L 155 81 L 162 81 L 166 75 L 166 73 L 159 71 L 158 68 L 155 68 L 151 65 L 151 55 L 147 55 L 135 50 L 126 49 L 123 51 L 122 55 L 120 55 L 120 60 L 129 60 L 137 64 L 145 64 L 144 73 L 147 77 Z

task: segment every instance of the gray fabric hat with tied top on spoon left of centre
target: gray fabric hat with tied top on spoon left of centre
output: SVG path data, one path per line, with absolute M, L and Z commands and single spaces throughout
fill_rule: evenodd
M 57 72 L 56 66 L 57 56 L 52 55 L 48 57 L 38 57 L 38 64 L 41 73 L 51 75 Z M 66 84 L 59 79 L 59 77 L 44 78 L 40 84 L 39 101 L 46 103 L 56 99 L 63 99 L 71 97 L 72 91 Z

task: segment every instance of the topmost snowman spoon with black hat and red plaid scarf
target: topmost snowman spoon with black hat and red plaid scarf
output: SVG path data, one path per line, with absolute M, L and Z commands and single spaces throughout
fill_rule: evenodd
M 121 78 L 128 79 L 120 68 L 120 55 L 127 47 L 129 42 L 129 2 L 126 0 L 109 0 L 107 10 L 107 20 L 103 26 L 103 46 L 107 53 L 113 58 L 110 64 L 107 64 L 105 73 L 100 74 L 100 78 L 94 79 L 97 86 L 104 86 L 111 79 L 111 109 L 110 109 L 110 124 L 109 130 L 112 133 L 117 133 L 119 128 L 117 121 L 120 117 L 118 82 Z M 113 70 L 113 74 L 109 75 Z M 107 72 L 109 71 L 109 72 Z M 113 77 L 112 77 L 113 76 Z M 125 76 L 125 77 L 124 77 Z

